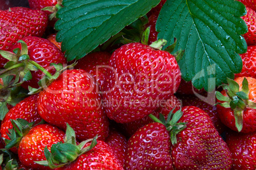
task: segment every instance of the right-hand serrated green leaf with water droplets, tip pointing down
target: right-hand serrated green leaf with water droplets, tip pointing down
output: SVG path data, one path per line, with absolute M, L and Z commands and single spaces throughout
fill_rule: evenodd
M 241 36 L 247 32 L 245 13 L 234 0 L 168 0 L 157 20 L 158 39 L 167 39 L 169 46 L 177 38 L 174 52 L 185 50 L 178 62 L 183 79 L 194 78 L 194 87 L 211 91 L 242 69 L 238 53 L 247 47 Z

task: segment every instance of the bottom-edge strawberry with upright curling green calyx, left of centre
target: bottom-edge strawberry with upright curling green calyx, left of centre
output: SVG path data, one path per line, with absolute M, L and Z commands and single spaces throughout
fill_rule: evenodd
M 113 150 L 104 141 L 89 139 L 79 145 L 76 143 L 75 131 L 67 124 L 64 143 L 52 145 L 51 153 L 46 149 L 47 164 L 37 162 L 51 168 L 60 169 L 124 169 L 115 157 Z M 59 168 L 58 168 L 59 167 Z

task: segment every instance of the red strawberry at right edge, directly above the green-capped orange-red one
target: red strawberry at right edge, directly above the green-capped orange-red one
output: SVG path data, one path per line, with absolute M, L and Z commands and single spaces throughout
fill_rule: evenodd
M 256 78 L 256 46 L 248 46 L 247 52 L 240 54 L 243 60 L 243 69 L 240 73 L 235 74 L 235 78 L 241 76 L 250 76 Z

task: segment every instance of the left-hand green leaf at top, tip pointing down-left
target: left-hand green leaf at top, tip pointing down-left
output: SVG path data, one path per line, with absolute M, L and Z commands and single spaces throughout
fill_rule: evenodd
M 57 41 L 68 61 L 80 59 L 145 15 L 160 0 L 64 0 L 57 11 Z

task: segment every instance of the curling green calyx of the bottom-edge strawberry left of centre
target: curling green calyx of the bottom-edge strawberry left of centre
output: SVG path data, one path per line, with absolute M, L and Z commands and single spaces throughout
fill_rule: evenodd
M 45 147 L 45 157 L 46 160 L 34 161 L 37 164 L 48 166 L 50 168 L 62 167 L 70 162 L 76 160 L 83 153 L 89 152 L 94 146 L 97 145 L 97 136 L 93 139 L 87 139 L 82 141 L 79 145 L 76 145 L 75 131 L 67 124 L 66 136 L 64 138 L 64 143 L 59 142 L 53 144 L 51 147 L 51 152 Z M 91 144 L 84 147 L 87 143 Z

